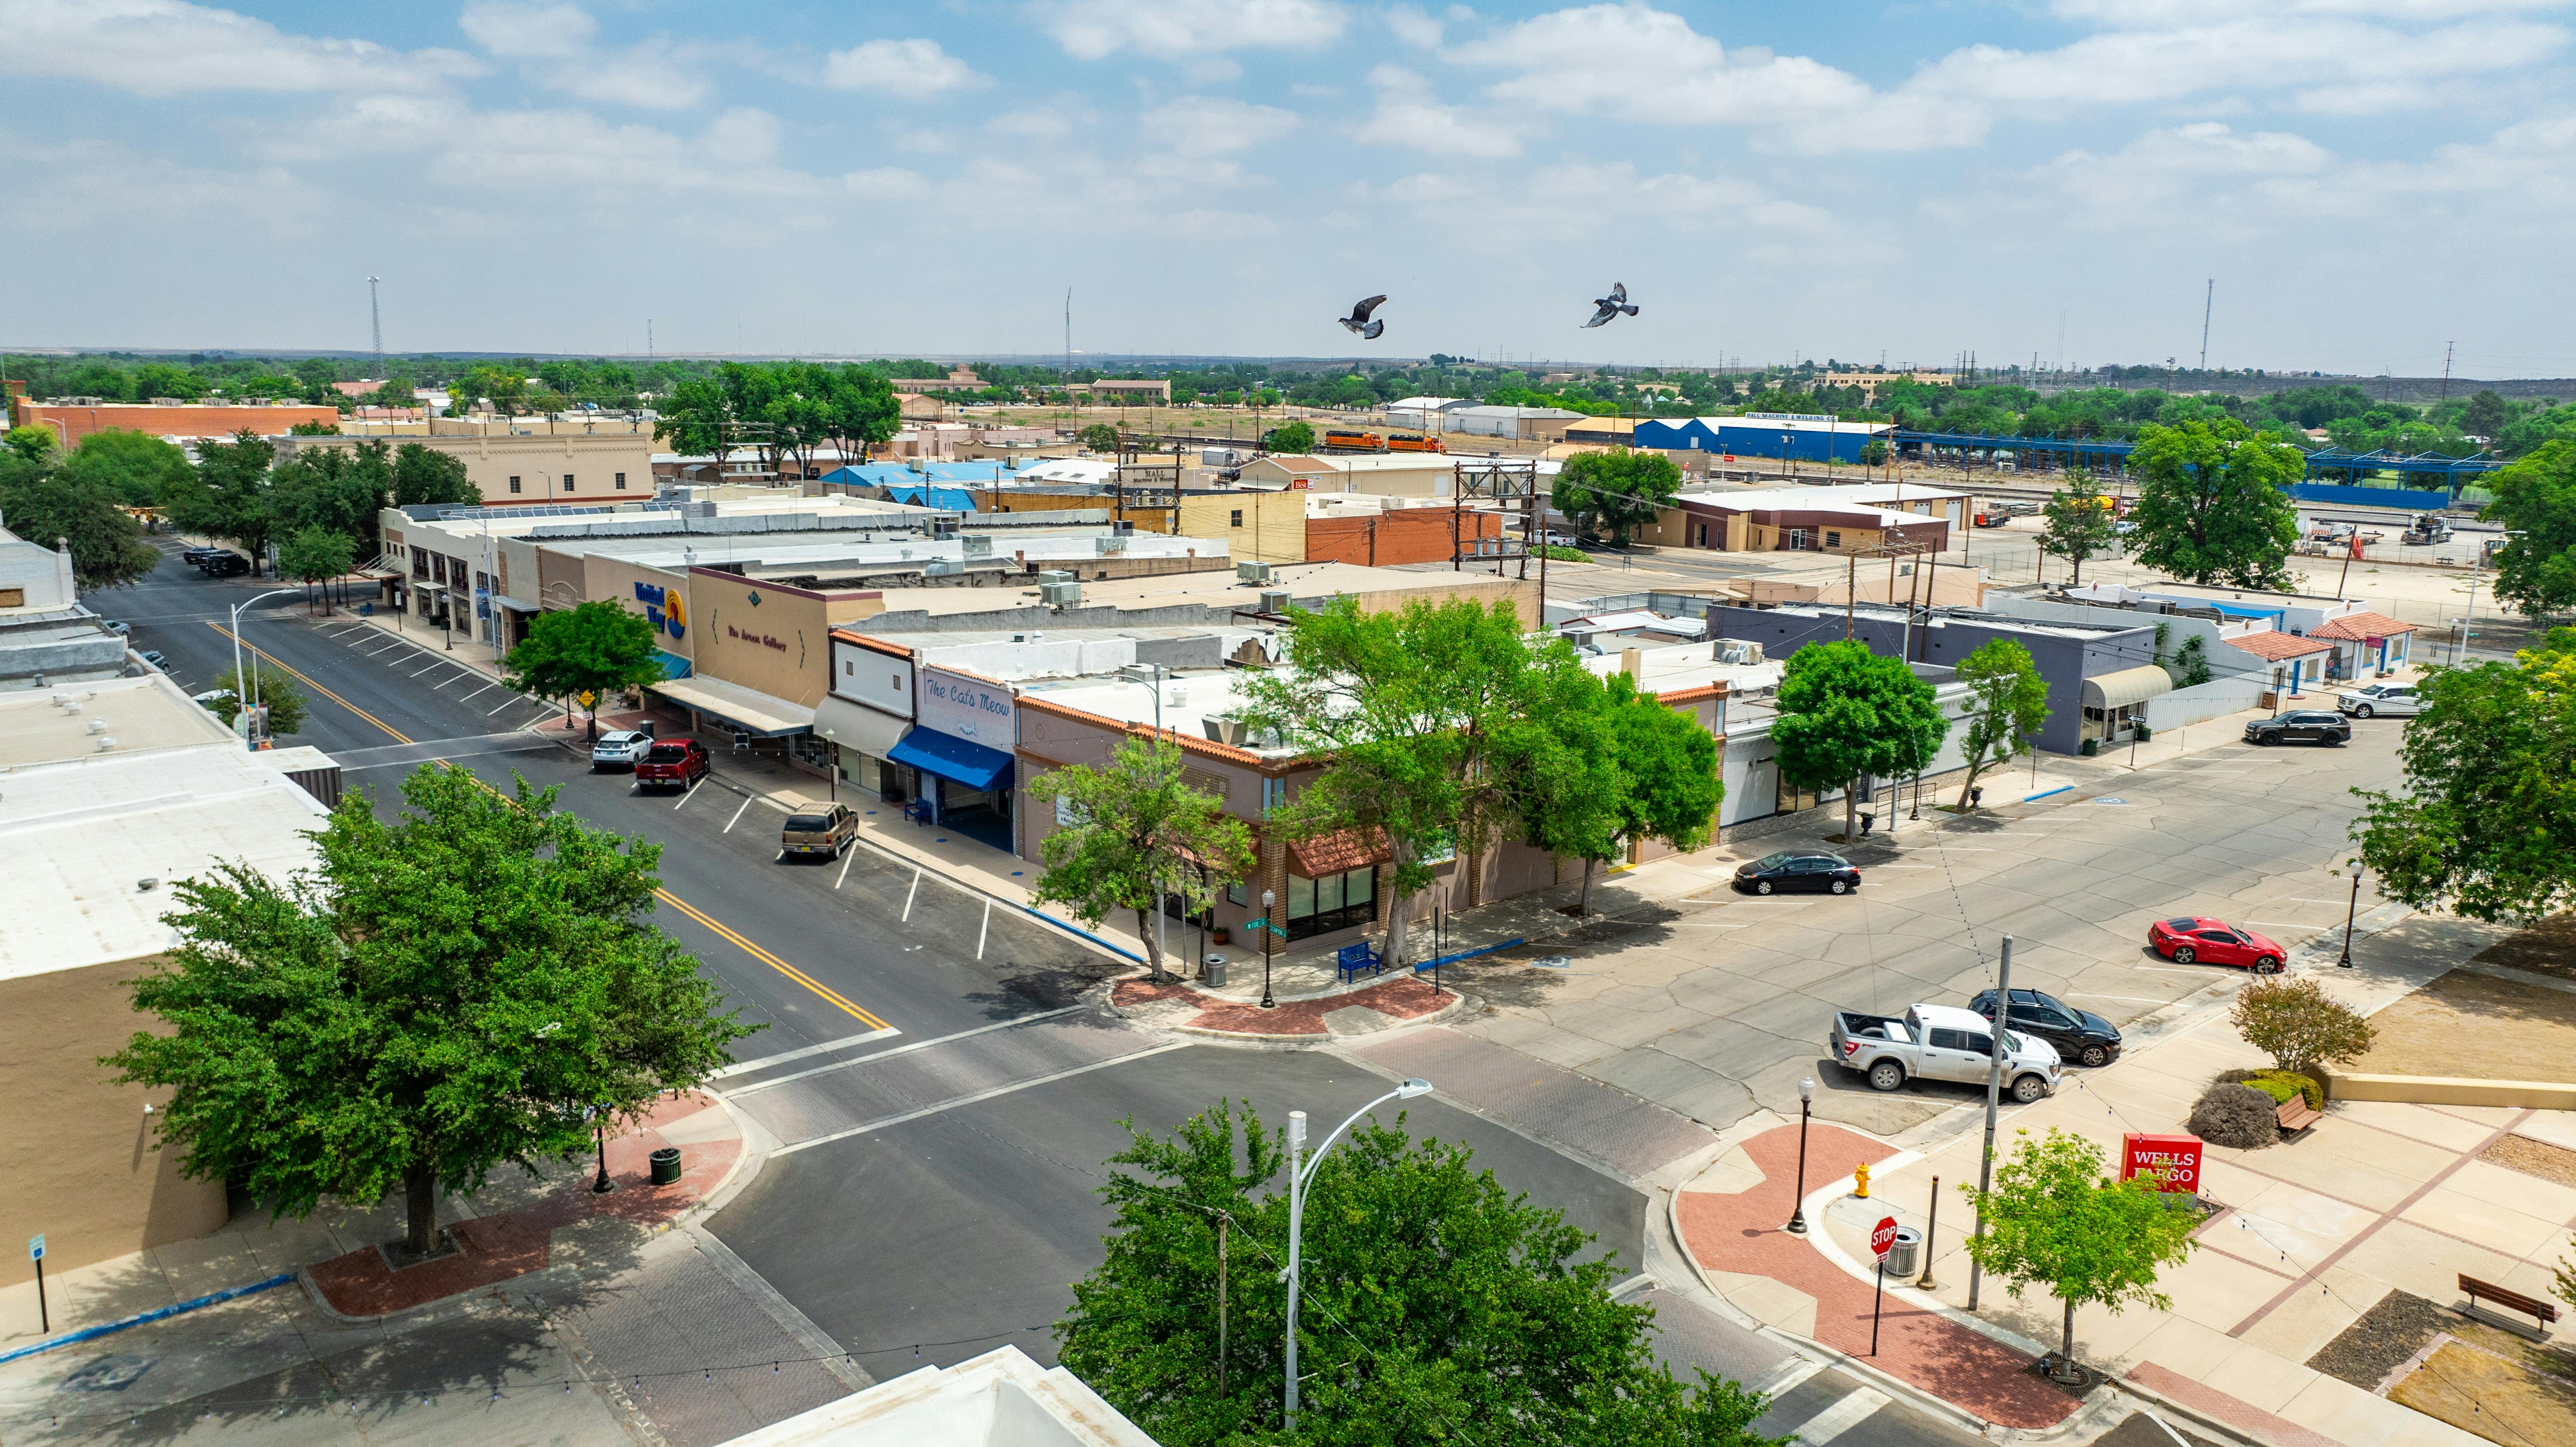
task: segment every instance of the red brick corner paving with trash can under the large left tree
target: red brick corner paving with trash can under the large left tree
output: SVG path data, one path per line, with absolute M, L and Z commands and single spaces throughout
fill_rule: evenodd
M 680 1179 L 652 1184 L 652 1153 L 680 1143 Z M 541 1272 L 554 1259 L 554 1233 L 585 1220 L 659 1228 L 708 1197 L 742 1161 L 742 1133 L 703 1094 L 667 1099 L 631 1133 L 608 1141 L 608 1179 L 592 1195 L 595 1169 L 551 1172 L 536 1200 L 448 1223 L 456 1251 L 392 1269 L 379 1246 L 361 1246 L 307 1267 L 322 1300 L 343 1316 L 386 1316 L 510 1277 Z M 507 1182 L 505 1182 L 507 1184 Z

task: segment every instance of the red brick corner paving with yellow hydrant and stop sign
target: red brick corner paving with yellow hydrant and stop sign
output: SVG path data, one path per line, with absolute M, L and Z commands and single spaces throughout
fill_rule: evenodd
M 2002 1426 L 2056 1426 L 2074 1416 L 2079 1401 L 2032 1372 L 2035 1359 L 1945 1316 L 1888 1298 L 1878 1329 L 1878 1354 L 1870 1357 L 1868 1282 L 1829 1262 L 1814 1244 L 1783 1226 L 1795 1202 L 1798 1128 L 1780 1125 L 1744 1141 L 1744 1153 L 1762 1172 L 1741 1192 L 1685 1190 L 1674 1218 L 1682 1246 L 1708 1272 L 1767 1277 L 1816 1303 L 1814 1341 L 1868 1359 L 1873 1367 L 1914 1383 L 1932 1396 L 1963 1406 Z M 1883 1161 L 1896 1151 L 1868 1135 L 1814 1125 L 1806 1148 L 1808 1184 L 1850 1177 L 1862 1161 Z M 1824 1223 L 1811 1223 L 1824 1231 Z

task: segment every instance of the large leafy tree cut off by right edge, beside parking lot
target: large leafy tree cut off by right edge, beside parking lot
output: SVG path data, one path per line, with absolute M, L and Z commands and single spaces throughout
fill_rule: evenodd
M 2380 893 L 2470 919 L 2576 906 L 2576 628 L 2514 662 L 2437 667 L 2398 739 L 2406 788 L 2354 790 Z

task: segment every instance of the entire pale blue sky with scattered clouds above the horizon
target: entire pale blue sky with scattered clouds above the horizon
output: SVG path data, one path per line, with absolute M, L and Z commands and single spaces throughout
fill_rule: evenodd
M 0 0 L 0 342 L 2576 376 L 2571 10 Z

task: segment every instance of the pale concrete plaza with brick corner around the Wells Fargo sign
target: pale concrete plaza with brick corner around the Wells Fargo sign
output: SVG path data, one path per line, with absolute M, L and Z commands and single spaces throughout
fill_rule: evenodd
M 2316 973 L 2367 1012 L 2491 935 L 2455 919 L 2406 919 L 2357 940 L 2354 971 L 2331 968 L 2326 945 L 2300 950 L 2293 971 Z M 2182 1002 L 2172 1027 L 2133 1038 L 2117 1063 L 2069 1071 L 2053 1097 L 2007 1107 L 1996 1151 L 2009 1153 L 2020 1130 L 2063 1128 L 2117 1159 L 2125 1130 L 2184 1133 L 2213 1074 L 2269 1063 L 2226 1022 L 2228 999 L 2233 989 Z M 2141 1396 L 2280 1447 L 2478 1442 L 2308 1362 L 2391 1293 L 2447 1305 L 2460 1272 L 2548 1295 L 2576 1190 L 2483 1161 L 2509 1133 L 2576 1141 L 2576 1112 L 2331 1102 L 2326 1120 L 2282 1146 L 2210 1146 L 2205 1195 L 2221 1210 L 2195 1233 L 2192 1256 L 2159 1282 L 2174 1308 L 2084 1308 L 2076 1357 Z M 1989 1280 L 1978 1313 L 1965 1311 L 1963 1238 L 1973 1215 L 1958 1187 L 1976 1179 L 1978 1148 L 1978 1107 L 1899 1141 L 1814 1125 L 1803 1202 L 1811 1233 L 1798 1238 L 1783 1231 L 1798 1128 L 1762 1115 L 1728 1133 L 1718 1161 L 1682 1187 L 1674 1226 L 1708 1285 L 1739 1311 L 1844 1352 L 1868 1329 L 1870 1226 L 1893 1215 L 1929 1231 L 1935 1287 L 1888 1282 L 1878 1365 L 1994 1424 L 2038 1426 L 2048 1396 L 2074 1401 L 2030 1370 L 2058 1341 L 2056 1300 L 2014 1300 Z M 1857 1164 L 1873 1166 L 1865 1200 L 1852 1184 Z

